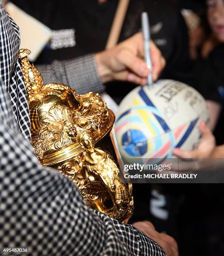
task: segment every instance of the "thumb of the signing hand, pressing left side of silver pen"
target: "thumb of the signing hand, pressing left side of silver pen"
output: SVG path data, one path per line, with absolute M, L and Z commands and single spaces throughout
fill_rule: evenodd
M 147 77 L 149 70 L 145 62 L 129 49 L 122 48 L 117 54 L 117 61 L 139 77 Z

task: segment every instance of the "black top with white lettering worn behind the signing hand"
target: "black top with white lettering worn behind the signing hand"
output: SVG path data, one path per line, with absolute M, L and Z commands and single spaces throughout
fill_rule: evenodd
M 55 59 L 72 59 L 104 50 L 118 0 L 108 0 L 102 5 L 97 0 L 12 2 L 53 30 L 51 42 L 36 61 L 50 64 Z M 167 61 L 160 78 L 191 83 L 187 28 L 181 13 L 170 2 L 131 0 L 119 41 L 140 31 L 143 11 L 149 13 L 152 39 Z M 107 86 L 107 92 L 118 103 L 136 86 L 125 82 L 116 84 L 120 86 Z

